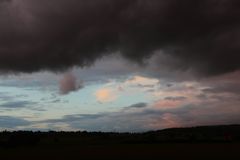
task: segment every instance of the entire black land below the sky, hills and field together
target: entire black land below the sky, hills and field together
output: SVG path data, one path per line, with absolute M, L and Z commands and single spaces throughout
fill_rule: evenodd
M 147 133 L 2 132 L 0 159 L 239 159 L 240 126 Z

